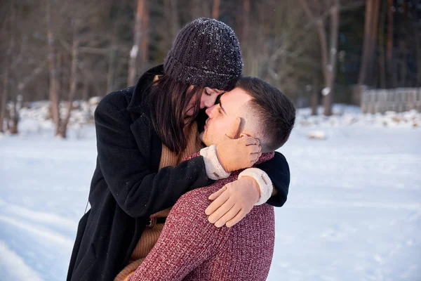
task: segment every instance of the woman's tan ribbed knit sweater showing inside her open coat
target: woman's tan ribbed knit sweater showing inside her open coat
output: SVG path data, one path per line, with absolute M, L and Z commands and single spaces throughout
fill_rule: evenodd
M 177 154 L 172 152 L 165 145 L 162 145 L 161 160 L 159 162 L 159 169 L 162 169 L 165 166 L 176 166 L 182 159 L 186 156 L 192 155 L 199 151 L 202 148 L 201 141 L 199 138 L 199 131 L 197 130 L 196 122 L 192 123 L 190 126 L 185 128 L 185 135 L 187 136 L 187 147 L 181 153 Z M 151 218 L 164 218 L 168 216 L 171 208 L 159 211 L 156 214 L 152 214 Z M 149 254 L 149 251 L 152 250 L 156 241 L 161 235 L 163 229 L 163 223 L 158 223 L 154 228 L 145 228 L 140 237 L 138 244 L 136 244 L 133 253 L 128 260 L 128 264 L 123 270 L 114 278 L 114 281 L 126 281 L 142 264 L 143 260 Z

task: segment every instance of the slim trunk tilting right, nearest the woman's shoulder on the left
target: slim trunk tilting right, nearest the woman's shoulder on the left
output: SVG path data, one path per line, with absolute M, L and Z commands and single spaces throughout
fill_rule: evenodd
M 74 96 L 76 95 L 76 88 L 78 84 L 78 59 L 79 59 L 79 44 L 80 41 L 78 39 L 77 34 L 77 22 L 74 22 L 74 30 L 73 30 L 73 44 L 72 44 L 72 68 L 70 73 L 70 87 L 69 87 L 69 97 L 67 99 L 67 110 L 65 118 L 62 120 L 60 124 L 60 130 L 58 132 L 58 136 L 61 138 L 66 138 L 67 136 L 67 125 L 69 124 L 69 119 L 72 114 L 72 103 L 74 100 Z

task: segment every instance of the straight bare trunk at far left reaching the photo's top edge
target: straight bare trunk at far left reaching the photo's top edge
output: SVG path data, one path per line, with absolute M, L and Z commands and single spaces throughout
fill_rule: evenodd
M 47 37 L 48 37 L 48 66 L 50 69 L 50 103 L 51 117 L 56 128 L 60 126 L 60 112 L 58 109 L 58 70 L 57 70 L 57 53 L 55 51 L 55 34 L 53 32 L 53 13 L 51 12 L 51 1 L 46 0 L 46 21 L 47 21 Z M 56 131 L 57 133 L 57 131 Z

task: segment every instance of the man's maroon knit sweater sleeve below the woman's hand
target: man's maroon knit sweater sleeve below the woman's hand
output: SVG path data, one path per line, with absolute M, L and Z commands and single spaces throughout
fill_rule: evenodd
M 129 281 L 182 280 L 227 242 L 229 229 L 208 223 L 210 192 L 194 190 L 171 209 L 158 242 Z

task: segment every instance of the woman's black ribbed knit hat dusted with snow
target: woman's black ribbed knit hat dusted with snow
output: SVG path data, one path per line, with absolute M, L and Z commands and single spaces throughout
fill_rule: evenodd
M 178 32 L 163 67 L 176 81 L 229 91 L 243 70 L 239 40 L 225 23 L 198 18 Z

